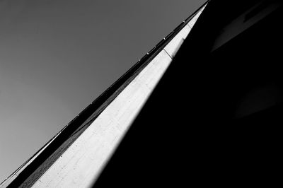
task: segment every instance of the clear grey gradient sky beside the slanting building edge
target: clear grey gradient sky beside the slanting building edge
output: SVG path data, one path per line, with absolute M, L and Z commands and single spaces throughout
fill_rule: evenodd
M 0 182 L 204 0 L 0 0 Z

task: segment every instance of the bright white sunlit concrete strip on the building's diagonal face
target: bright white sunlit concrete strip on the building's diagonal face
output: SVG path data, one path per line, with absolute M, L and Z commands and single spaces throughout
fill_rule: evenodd
M 199 14 L 197 14 L 199 16 Z M 194 22 L 197 18 L 195 18 Z M 33 187 L 89 187 L 96 181 L 154 87 L 190 32 L 188 25 L 168 43 Z

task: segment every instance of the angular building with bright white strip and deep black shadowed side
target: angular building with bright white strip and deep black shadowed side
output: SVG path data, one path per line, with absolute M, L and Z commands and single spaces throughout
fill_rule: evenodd
M 278 184 L 282 13 L 207 1 L 5 184 Z

